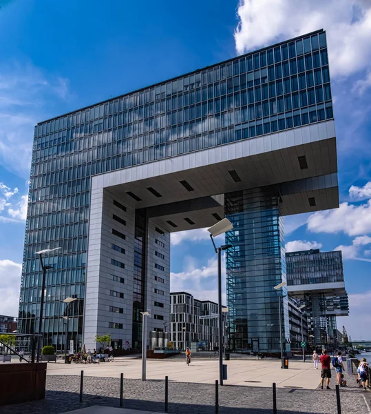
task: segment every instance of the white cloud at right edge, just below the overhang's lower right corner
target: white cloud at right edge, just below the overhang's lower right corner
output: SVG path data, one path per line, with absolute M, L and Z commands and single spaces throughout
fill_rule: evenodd
M 334 210 L 319 211 L 308 218 L 313 233 L 346 233 L 349 236 L 371 233 L 371 200 L 356 206 L 341 203 Z

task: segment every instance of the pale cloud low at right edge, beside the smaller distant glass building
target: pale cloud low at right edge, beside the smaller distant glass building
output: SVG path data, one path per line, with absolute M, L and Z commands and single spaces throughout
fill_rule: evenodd
M 349 316 L 337 317 L 337 327 L 341 330 L 341 326 L 346 326 L 348 336 L 353 340 L 361 339 L 367 335 L 367 327 L 371 326 L 371 314 L 365 312 L 370 308 L 371 290 L 366 292 L 348 295 L 349 299 Z

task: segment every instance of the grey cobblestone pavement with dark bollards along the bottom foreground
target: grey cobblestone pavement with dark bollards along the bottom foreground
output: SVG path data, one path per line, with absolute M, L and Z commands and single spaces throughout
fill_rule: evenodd
M 1 414 L 60 414 L 85 406 L 119 406 L 120 380 L 85 377 L 83 403 L 79 402 L 80 378 L 72 375 L 47 377 L 47 393 L 43 401 L 0 407 Z M 341 388 L 343 414 L 370 413 L 365 403 L 371 391 Z M 165 411 L 165 382 L 124 380 L 124 406 L 138 410 Z M 215 413 L 215 386 L 169 382 L 169 413 Z M 271 414 L 271 388 L 223 386 L 219 388 L 220 414 Z M 279 414 L 336 414 L 335 391 L 277 388 Z

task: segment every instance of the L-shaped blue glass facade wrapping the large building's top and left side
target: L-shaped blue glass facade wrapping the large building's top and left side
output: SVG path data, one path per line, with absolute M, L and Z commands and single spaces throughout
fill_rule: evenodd
M 45 287 L 44 343 L 63 348 L 63 303 L 77 297 L 81 346 L 90 177 L 332 119 L 326 34 L 315 32 L 38 124 L 34 130 L 19 330 L 32 333 Z M 138 334 L 139 335 L 139 334 Z

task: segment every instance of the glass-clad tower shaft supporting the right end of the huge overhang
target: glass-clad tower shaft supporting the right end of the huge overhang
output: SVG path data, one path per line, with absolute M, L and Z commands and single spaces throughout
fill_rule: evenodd
M 281 297 L 273 289 L 286 282 L 280 204 L 270 188 L 225 195 L 225 215 L 233 224 L 226 233 L 233 246 L 226 250 L 226 293 L 229 345 L 235 351 L 279 352 L 279 318 L 282 338 L 289 335 L 286 287 Z

